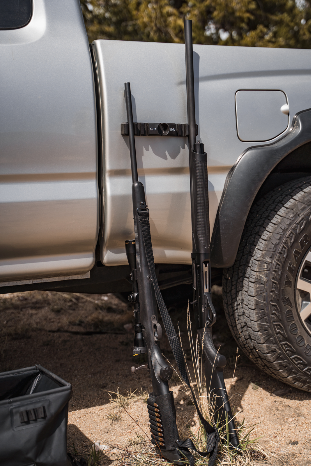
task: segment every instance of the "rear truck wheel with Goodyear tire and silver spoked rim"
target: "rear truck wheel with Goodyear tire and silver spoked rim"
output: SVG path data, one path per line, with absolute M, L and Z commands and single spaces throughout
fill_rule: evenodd
M 311 392 L 311 176 L 251 209 L 237 258 L 224 269 L 232 334 L 263 371 Z

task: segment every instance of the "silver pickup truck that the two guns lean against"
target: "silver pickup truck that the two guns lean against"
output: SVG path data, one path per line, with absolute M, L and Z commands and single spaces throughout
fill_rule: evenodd
M 186 127 L 184 45 L 89 44 L 78 0 L 1 1 L 0 63 L 0 293 L 131 290 L 130 81 L 158 281 L 182 296 L 188 138 L 149 128 Z M 311 50 L 195 45 L 194 74 L 213 283 L 248 357 L 311 391 Z

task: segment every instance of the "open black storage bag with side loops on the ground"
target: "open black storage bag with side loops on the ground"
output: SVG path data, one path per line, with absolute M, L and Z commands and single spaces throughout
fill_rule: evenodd
M 0 465 L 69 466 L 70 383 L 40 365 L 0 373 Z

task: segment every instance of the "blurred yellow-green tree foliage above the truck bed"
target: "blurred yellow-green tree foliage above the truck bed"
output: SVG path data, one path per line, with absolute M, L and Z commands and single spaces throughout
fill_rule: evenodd
M 307 0 L 81 0 L 89 40 L 184 41 L 193 21 L 197 44 L 311 48 Z

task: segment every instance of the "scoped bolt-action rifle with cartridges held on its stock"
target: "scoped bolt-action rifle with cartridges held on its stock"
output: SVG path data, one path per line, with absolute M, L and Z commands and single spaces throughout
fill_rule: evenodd
M 138 181 L 130 83 L 125 83 L 124 87 L 129 125 L 135 232 L 135 240 L 125 241 L 133 283 L 133 292 L 129 296 L 129 300 L 134 303 L 135 308 L 133 353 L 134 355 L 147 353 L 148 370 L 153 386 L 153 391 L 147 400 L 151 441 L 159 454 L 178 463 L 183 455 L 177 449 L 176 441 L 179 440 L 179 435 L 176 425 L 176 410 L 173 392 L 169 390 L 168 386 L 168 380 L 171 378 L 173 370 L 162 356 L 160 349 L 162 327 L 158 322 L 153 277 L 147 260 L 141 222 L 148 215 L 148 207 L 144 186 Z M 135 367 L 131 368 L 133 373 L 136 370 Z

